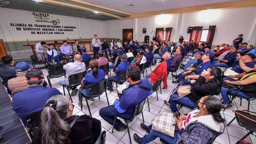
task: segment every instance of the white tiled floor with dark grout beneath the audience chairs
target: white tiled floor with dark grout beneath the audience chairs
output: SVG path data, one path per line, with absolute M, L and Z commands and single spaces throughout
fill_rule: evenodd
M 155 66 L 152 66 L 152 70 L 155 68 Z M 48 72 L 46 69 L 42 70 L 44 75 L 48 75 Z M 148 72 L 150 71 L 150 69 L 147 70 Z M 177 74 L 179 74 L 180 72 L 182 72 L 181 70 L 177 71 Z M 113 74 L 113 73 L 112 73 Z M 142 79 L 143 79 L 143 75 L 141 75 Z M 107 78 L 107 76 L 106 76 Z M 59 89 L 60 92 L 63 93 L 63 88 L 61 85 L 58 84 L 58 81 L 60 79 L 64 79 L 64 76 L 62 76 L 61 78 L 54 78 L 51 79 L 51 83 L 53 85 L 53 87 Z M 47 79 L 46 79 L 47 81 Z M 148 97 L 149 99 L 149 106 L 150 106 L 150 112 L 148 111 L 148 105 L 147 103 L 144 104 L 144 110 L 143 110 L 143 114 L 144 114 L 144 119 L 145 119 L 145 124 L 149 125 L 151 120 L 160 112 L 160 111 L 165 111 L 165 112 L 171 112 L 170 108 L 168 106 L 166 106 L 164 104 L 164 100 L 168 100 L 169 99 L 169 95 L 171 93 L 171 91 L 173 90 L 173 88 L 176 86 L 176 84 L 172 83 L 172 77 L 171 74 L 169 74 L 169 77 L 167 79 L 168 82 L 168 89 L 167 90 L 162 90 L 162 94 L 160 94 L 160 89 L 158 91 L 158 101 L 156 99 L 156 92 L 154 92 L 151 96 Z M 126 83 L 127 84 L 127 83 Z M 162 86 L 163 87 L 163 86 Z M 109 93 L 109 91 L 107 91 L 107 95 L 108 95 L 108 100 L 110 104 L 113 104 L 115 99 L 117 98 L 117 91 L 116 91 L 116 87 L 114 86 L 114 91 Z M 67 90 L 65 90 L 66 96 L 68 96 L 68 92 Z M 221 96 L 217 95 L 217 98 L 221 98 Z M 77 105 L 78 103 L 78 96 L 73 96 L 73 104 L 75 105 L 73 114 L 75 115 L 83 115 L 83 114 L 87 114 L 89 115 L 89 111 L 86 105 L 86 102 L 83 101 L 83 110 L 80 110 L 80 107 Z M 98 100 L 97 98 L 95 98 L 95 101 L 89 101 L 89 105 L 90 105 L 90 110 L 92 113 L 92 117 L 97 118 L 101 121 L 101 126 L 102 126 L 102 131 L 105 130 L 107 132 L 107 136 L 106 136 L 106 144 L 127 144 L 129 143 L 129 137 L 128 137 L 128 133 L 127 130 L 122 131 L 122 132 L 117 132 L 114 130 L 114 133 L 112 134 L 112 125 L 108 124 L 105 120 L 103 120 L 100 116 L 99 116 L 99 110 L 102 107 L 107 106 L 107 99 L 105 96 L 105 93 L 102 94 L 100 96 L 100 100 Z M 234 113 L 232 112 L 232 110 L 243 110 L 243 109 L 247 109 L 247 101 L 243 100 L 242 101 L 242 106 L 240 106 L 240 100 L 236 99 L 234 103 L 232 103 L 232 107 L 225 110 L 225 112 L 221 111 L 221 115 L 226 119 L 226 123 L 229 123 L 233 117 L 235 116 Z M 255 112 L 256 110 L 256 100 L 251 101 L 250 104 L 250 110 Z M 188 113 L 189 110 L 182 108 L 180 110 L 181 114 L 185 114 Z M 129 123 L 129 127 L 130 127 L 130 134 L 131 134 L 131 139 L 132 139 L 132 143 L 135 144 L 135 141 L 133 139 L 133 134 L 137 133 L 139 136 L 143 136 L 146 134 L 146 131 L 142 130 L 142 128 L 140 127 L 140 123 L 142 123 L 142 116 L 137 116 L 133 122 Z M 236 120 L 233 121 L 233 123 L 231 123 L 231 125 L 229 127 L 227 127 L 227 129 L 225 130 L 225 132 L 220 135 L 219 137 L 216 138 L 215 140 L 215 144 L 235 144 L 240 138 L 242 138 L 245 134 L 247 133 L 247 131 L 240 127 L 239 124 L 237 123 Z M 255 134 L 254 134 L 255 135 Z M 256 144 L 256 137 L 253 135 L 248 136 L 246 139 L 246 141 L 252 142 Z M 154 140 L 153 142 L 151 142 L 150 144 L 161 144 L 159 138 L 157 138 L 156 140 Z

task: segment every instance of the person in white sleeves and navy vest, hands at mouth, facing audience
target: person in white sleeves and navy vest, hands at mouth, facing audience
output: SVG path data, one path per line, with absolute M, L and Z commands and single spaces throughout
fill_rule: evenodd
M 54 48 L 53 44 L 49 44 L 50 48 L 46 50 L 48 61 L 56 61 L 57 65 L 60 65 L 60 58 L 62 54 L 58 51 L 57 48 Z

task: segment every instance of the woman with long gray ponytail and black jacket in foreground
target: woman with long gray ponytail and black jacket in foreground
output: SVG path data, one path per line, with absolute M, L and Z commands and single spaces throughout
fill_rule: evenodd
M 101 132 L 100 121 L 86 114 L 72 116 L 73 108 L 69 98 L 52 96 L 42 111 L 32 144 L 94 144 Z

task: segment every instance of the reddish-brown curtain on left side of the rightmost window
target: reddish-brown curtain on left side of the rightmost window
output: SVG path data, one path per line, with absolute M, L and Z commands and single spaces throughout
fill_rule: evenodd
M 202 33 L 202 28 L 203 26 L 195 26 L 192 29 L 192 32 L 190 34 L 190 39 L 189 40 L 193 40 L 194 41 L 194 49 L 197 49 L 199 47 L 199 42 L 200 42 L 200 38 L 201 38 L 201 33 Z

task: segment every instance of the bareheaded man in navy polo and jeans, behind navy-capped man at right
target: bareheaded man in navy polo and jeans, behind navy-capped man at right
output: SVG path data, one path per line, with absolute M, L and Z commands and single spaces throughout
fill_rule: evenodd
M 236 59 L 236 54 L 237 54 L 237 48 L 236 46 L 233 46 L 230 49 L 230 52 L 225 55 L 223 59 L 219 59 L 218 61 L 213 61 L 213 67 L 230 67 L 234 60 Z

